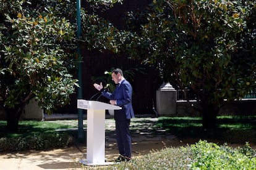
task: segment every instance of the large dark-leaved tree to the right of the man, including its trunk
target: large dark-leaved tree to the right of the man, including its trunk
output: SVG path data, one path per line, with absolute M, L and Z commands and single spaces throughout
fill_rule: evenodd
M 136 33 L 129 54 L 174 87 L 191 89 L 204 127 L 215 126 L 224 100 L 255 90 L 255 1 L 153 1 L 127 22 Z

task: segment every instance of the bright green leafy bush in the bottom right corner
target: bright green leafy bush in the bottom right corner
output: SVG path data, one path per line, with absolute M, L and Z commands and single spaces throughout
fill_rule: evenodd
M 249 145 L 233 149 L 227 145 L 218 146 L 200 140 L 189 148 L 192 153 L 192 169 L 256 169 L 256 159 L 252 157 Z

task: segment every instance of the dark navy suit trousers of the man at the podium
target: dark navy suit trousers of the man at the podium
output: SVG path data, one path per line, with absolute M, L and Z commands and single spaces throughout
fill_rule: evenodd
M 123 156 L 132 156 L 132 140 L 130 137 L 130 119 L 116 120 L 116 139 L 119 154 Z

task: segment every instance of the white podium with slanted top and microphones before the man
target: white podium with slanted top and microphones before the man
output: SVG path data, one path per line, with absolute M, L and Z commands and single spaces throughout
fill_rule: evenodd
M 87 110 L 87 160 L 80 163 L 88 166 L 113 164 L 105 161 L 105 110 L 119 110 L 121 107 L 78 99 L 77 108 Z

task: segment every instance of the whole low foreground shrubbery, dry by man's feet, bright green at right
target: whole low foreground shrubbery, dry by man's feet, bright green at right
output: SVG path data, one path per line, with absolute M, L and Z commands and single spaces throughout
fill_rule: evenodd
M 151 152 L 109 169 L 256 169 L 254 156 L 249 144 L 231 148 L 200 140 L 187 147 Z

